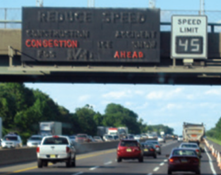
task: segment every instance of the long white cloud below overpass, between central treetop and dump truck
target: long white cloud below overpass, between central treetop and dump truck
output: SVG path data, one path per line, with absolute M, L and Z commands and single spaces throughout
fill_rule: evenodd
M 170 99 L 175 96 L 179 96 L 182 92 L 182 88 L 176 88 L 170 91 L 153 91 L 147 94 L 149 100 Z

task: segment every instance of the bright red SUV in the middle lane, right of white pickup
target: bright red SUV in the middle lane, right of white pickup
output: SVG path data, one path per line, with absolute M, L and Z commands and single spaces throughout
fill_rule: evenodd
M 143 162 L 142 146 L 137 140 L 121 140 L 117 148 L 117 162 L 122 159 L 138 159 Z

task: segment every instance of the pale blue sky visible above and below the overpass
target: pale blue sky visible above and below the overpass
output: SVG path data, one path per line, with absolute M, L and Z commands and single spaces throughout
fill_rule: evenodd
M 3 1 L 3 0 L 1 0 Z M 35 6 L 36 0 L 7 0 L 0 8 Z M 47 7 L 87 7 L 87 0 L 44 0 Z M 148 0 L 95 0 L 95 7 L 148 8 Z M 205 10 L 220 10 L 221 0 L 205 0 Z M 156 0 L 161 10 L 199 10 L 200 0 Z M 182 134 L 183 122 L 211 129 L 221 117 L 221 86 L 25 83 L 75 112 L 85 104 L 104 113 L 109 103 L 133 110 L 147 124 L 164 124 Z

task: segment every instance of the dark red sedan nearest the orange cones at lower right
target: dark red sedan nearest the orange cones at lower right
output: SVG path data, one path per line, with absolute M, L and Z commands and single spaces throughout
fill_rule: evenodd
M 192 171 L 200 174 L 200 158 L 193 149 L 175 148 L 168 159 L 168 174 L 173 171 Z

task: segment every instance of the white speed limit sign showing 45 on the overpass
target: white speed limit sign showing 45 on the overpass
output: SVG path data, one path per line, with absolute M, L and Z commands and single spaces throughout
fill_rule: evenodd
M 207 16 L 172 16 L 171 58 L 207 59 Z

